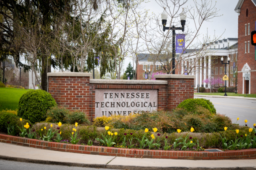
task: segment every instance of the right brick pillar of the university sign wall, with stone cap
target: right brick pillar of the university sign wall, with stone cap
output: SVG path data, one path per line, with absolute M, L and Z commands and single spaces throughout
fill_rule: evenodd
M 166 80 L 167 110 L 175 109 L 182 101 L 194 98 L 194 79 L 191 75 L 163 74 L 154 75 L 156 80 Z

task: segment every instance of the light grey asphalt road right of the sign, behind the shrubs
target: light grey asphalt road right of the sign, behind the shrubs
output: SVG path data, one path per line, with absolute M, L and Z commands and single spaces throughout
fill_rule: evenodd
M 245 119 L 248 120 L 246 123 L 248 127 L 253 127 L 253 123 L 256 123 L 256 101 L 245 100 L 237 98 L 207 98 L 207 97 L 196 97 L 205 98 L 210 100 L 216 109 L 217 113 L 229 116 L 233 123 L 239 123 L 245 125 Z M 239 120 L 237 121 L 237 117 Z

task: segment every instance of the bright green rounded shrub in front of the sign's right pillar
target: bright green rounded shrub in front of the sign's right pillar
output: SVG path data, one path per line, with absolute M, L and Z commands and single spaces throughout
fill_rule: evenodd
M 205 109 L 208 109 L 211 113 L 214 113 L 210 105 L 208 105 L 208 102 L 203 98 L 190 98 L 184 100 L 177 106 L 177 108 L 183 108 L 186 109 L 188 112 L 194 113 L 196 111 L 197 105 L 202 106 Z

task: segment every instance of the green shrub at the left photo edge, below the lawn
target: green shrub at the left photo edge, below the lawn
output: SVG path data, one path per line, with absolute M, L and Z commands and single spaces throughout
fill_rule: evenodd
M 0 131 L 7 133 L 8 123 L 11 126 L 15 127 L 15 132 L 18 134 L 20 132 L 20 128 L 22 128 L 26 123 L 30 123 L 29 120 L 23 119 L 22 122 L 19 120 L 19 117 L 13 113 L 2 111 L 0 112 Z

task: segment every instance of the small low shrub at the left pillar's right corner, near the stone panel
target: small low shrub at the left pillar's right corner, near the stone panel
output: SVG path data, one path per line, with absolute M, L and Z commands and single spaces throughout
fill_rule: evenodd
M 87 115 L 80 110 L 70 110 L 66 115 L 67 122 L 70 124 L 75 124 L 76 122 L 79 124 L 90 124 L 90 120 Z

